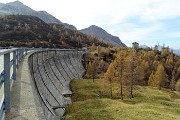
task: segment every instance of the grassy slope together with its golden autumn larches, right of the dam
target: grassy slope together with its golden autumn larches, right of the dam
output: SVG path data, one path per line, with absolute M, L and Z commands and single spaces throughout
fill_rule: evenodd
M 93 45 L 85 58 L 91 61 L 86 79 L 71 82 L 68 120 L 179 120 L 180 58 L 168 47 L 158 51 Z

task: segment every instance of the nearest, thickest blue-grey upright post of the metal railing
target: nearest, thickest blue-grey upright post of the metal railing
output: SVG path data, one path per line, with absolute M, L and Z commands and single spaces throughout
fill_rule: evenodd
M 4 54 L 4 101 L 5 101 L 5 112 L 9 112 L 11 109 L 10 102 L 10 52 Z

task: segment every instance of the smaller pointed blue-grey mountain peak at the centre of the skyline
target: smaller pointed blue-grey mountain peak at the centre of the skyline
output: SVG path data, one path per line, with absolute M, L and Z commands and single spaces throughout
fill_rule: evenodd
M 106 32 L 105 30 L 103 30 L 102 28 L 100 28 L 98 26 L 92 25 L 92 26 L 82 29 L 80 31 L 87 35 L 92 35 L 92 36 L 95 36 L 98 38 L 102 38 L 102 41 L 104 41 L 106 43 L 110 43 L 114 46 L 126 47 L 126 45 L 121 42 L 119 37 L 109 34 L 108 32 Z

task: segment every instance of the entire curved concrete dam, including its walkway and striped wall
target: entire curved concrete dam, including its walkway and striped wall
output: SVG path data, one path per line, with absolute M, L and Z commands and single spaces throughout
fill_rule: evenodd
M 10 52 L 15 53 L 14 50 Z M 12 74 L 16 77 L 11 82 L 11 89 L 4 87 L 10 92 L 4 92 L 7 97 L 2 97 L 0 120 L 66 119 L 65 110 L 72 103 L 70 81 L 82 78 L 85 72 L 82 64 L 84 51 L 42 49 L 17 53 L 13 57 L 18 56 L 17 61 L 13 60 L 14 71 L 18 68 Z

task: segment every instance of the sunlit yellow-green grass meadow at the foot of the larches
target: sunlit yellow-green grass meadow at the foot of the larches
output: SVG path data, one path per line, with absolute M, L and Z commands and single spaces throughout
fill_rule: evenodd
M 113 99 L 102 80 L 74 80 L 72 105 L 66 110 L 68 120 L 180 120 L 180 93 L 167 89 L 136 86 L 135 98 L 117 97 L 114 84 Z M 127 92 L 124 89 L 125 93 Z

